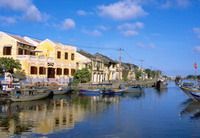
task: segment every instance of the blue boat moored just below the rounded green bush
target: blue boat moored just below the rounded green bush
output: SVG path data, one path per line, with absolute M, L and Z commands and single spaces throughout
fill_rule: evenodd
M 81 95 L 85 95 L 85 96 L 99 96 L 102 94 L 102 91 L 100 89 L 92 89 L 92 90 L 89 90 L 89 89 L 81 89 L 79 91 L 79 93 Z

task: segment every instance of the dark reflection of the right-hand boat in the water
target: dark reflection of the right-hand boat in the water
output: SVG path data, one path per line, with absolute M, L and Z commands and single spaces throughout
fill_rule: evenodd
M 192 99 L 187 99 L 182 103 L 184 108 L 180 112 L 181 116 L 190 116 L 191 119 L 200 119 L 200 103 Z

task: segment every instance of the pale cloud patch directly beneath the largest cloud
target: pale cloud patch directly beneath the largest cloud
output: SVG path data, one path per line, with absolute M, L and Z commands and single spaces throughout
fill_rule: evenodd
M 124 35 L 124 36 L 135 36 L 139 34 L 139 31 L 144 27 L 142 22 L 136 23 L 124 23 L 119 25 L 117 29 Z

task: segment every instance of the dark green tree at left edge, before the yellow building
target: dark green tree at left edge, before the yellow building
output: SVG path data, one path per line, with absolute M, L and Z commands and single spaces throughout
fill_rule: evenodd
M 21 64 L 18 60 L 13 58 L 1 57 L 0 58 L 0 73 L 10 72 L 13 73 L 14 69 L 20 70 Z

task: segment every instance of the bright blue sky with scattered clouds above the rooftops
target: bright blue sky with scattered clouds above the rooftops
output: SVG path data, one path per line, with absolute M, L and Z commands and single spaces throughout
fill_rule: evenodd
M 0 22 L 1 31 L 114 59 L 123 48 L 123 61 L 168 75 L 200 68 L 200 0 L 0 0 Z

